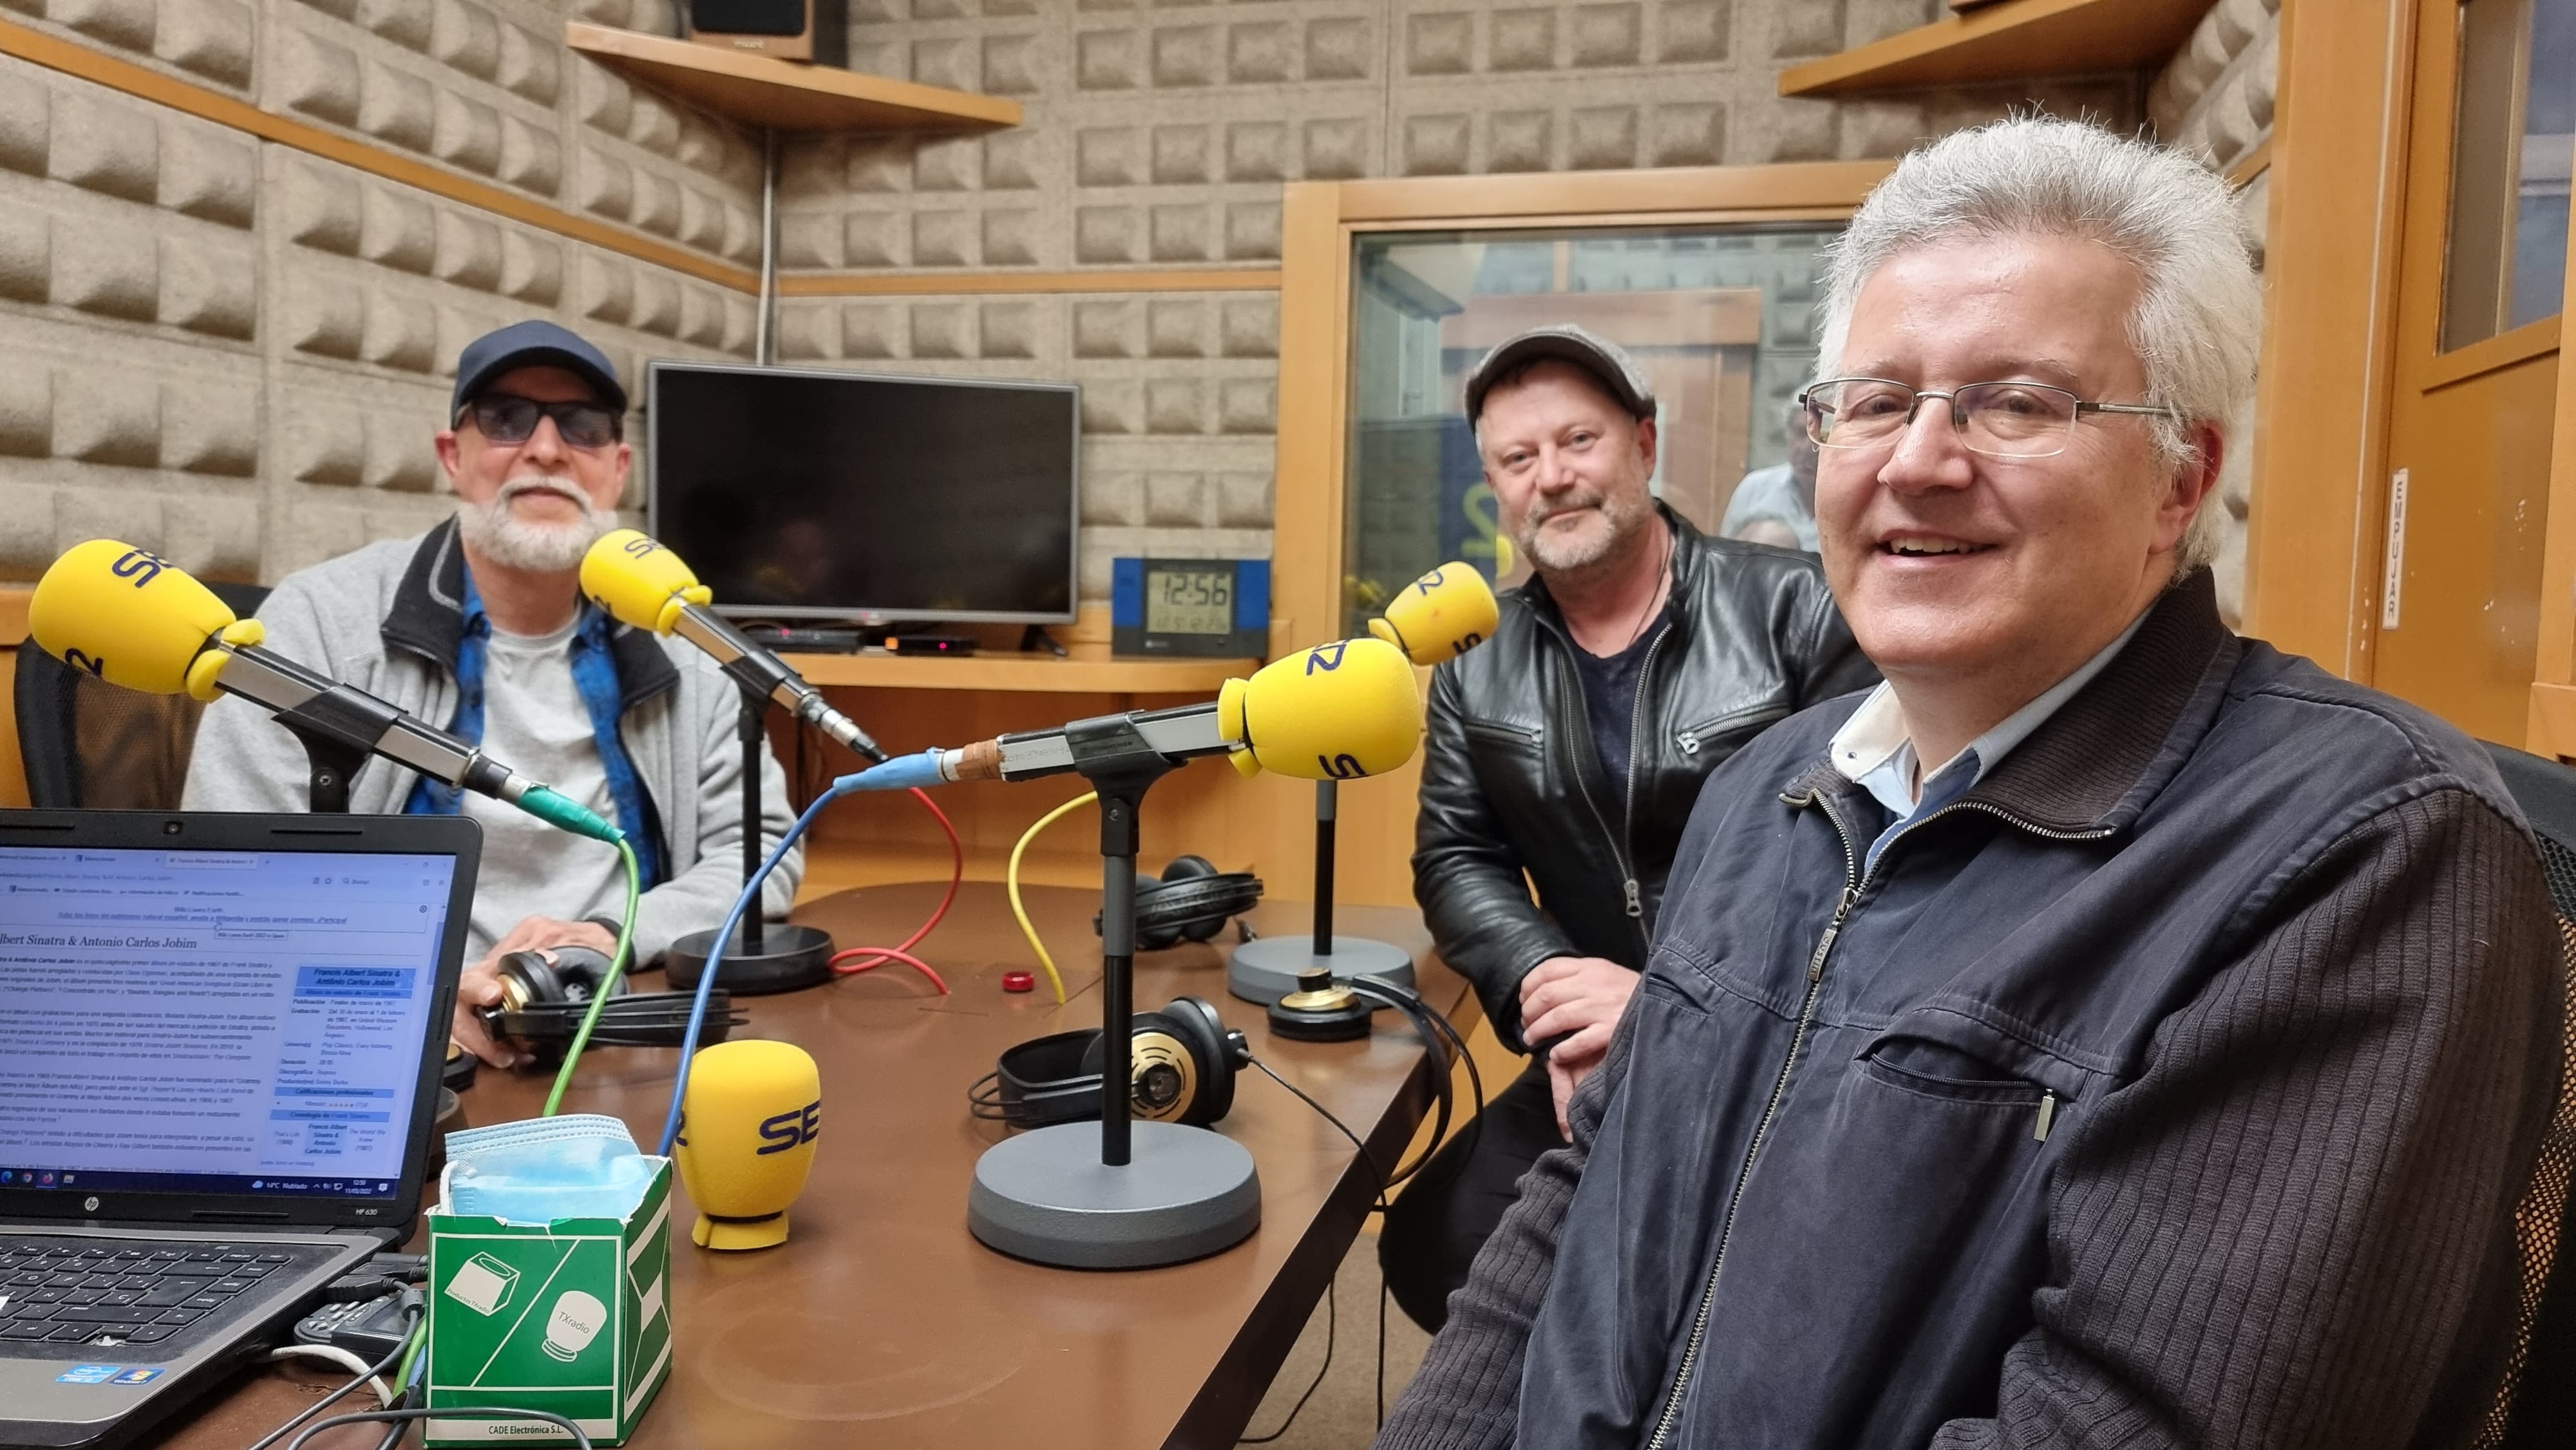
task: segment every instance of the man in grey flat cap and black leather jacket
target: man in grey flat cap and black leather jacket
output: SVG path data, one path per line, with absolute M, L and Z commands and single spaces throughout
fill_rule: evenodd
M 1533 1061 L 1386 1216 L 1386 1285 L 1425 1329 L 1520 1174 L 1564 1144 L 1700 780 L 1772 721 L 1878 680 L 1814 559 L 1708 538 L 1646 492 L 1654 394 L 1615 345 L 1522 332 L 1468 373 L 1466 415 L 1535 577 L 1504 590 L 1494 639 L 1432 675 L 1414 899 Z

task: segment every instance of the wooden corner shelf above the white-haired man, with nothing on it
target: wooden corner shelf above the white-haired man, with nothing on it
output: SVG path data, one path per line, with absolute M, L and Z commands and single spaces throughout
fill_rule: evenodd
M 2210 0 L 2002 0 L 1780 72 L 1780 95 L 1857 95 L 2161 64 Z

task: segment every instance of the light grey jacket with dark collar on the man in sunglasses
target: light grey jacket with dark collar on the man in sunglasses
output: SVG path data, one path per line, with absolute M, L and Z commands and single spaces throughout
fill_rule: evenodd
M 456 713 L 464 567 L 456 520 L 448 520 L 420 538 L 368 543 L 299 569 L 260 608 L 268 649 L 443 729 Z M 670 881 L 647 891 L 636 909 L 636 961 L 649 963 L 675 937 L 719 927 L 742 891 L 739 693 L 688 644 L 618 626 L 611 652 L 626 698 L 618 734 L 670 863 Z M 762 752 L 760 773 L 760 834 L 775 842 L 793 819 L 786 773 L 773 752 Z M 260 706 L 224 695 L 198 726 L 185 809 L 301 811 L 307 775 L 294 734 Z M 350 780 L 348 809 L 399 814 L 415 780 L 417 773 L 374 760 Z M 801 873 L 801 852 L 788 852 L 770 873 L 762 889 L 770 917 L 786 914 Z

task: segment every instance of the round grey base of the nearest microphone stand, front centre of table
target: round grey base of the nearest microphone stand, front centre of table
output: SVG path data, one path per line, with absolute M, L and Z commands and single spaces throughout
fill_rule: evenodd
M 1015 1259 L 1146 1270 L 1231 1249 L 1262 1226 L 1262 1180 L 1242 1144 L 1180 1123 L 1133 1123 L 1131 1162 L 1100 1162 L 1100 1128 L 1056 1123 L 984 1149 L 966 1229 Z

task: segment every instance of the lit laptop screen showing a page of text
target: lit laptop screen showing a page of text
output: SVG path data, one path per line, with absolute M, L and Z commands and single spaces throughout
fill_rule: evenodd
M 397 1195 L 453 878 L 0 847 L 0 1187 Z

